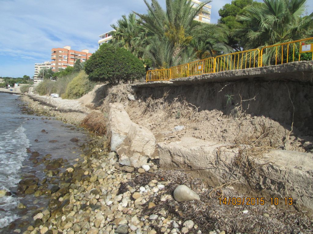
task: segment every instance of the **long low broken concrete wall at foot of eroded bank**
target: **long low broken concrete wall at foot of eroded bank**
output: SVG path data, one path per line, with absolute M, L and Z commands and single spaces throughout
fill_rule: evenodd
M 244 147 L 244 146 L 243 146 Z M 313 158 L 312 154 L 287 150 L 273 150 L 261 158 L 250 158 L 255 165 L 249 176 L 239 168 L 239 147 L 207 142 L 192 137 L 180 141 L 157 144 L 160 165 L 164 168 L 197 170 L 209 185 L 216 187 L 233 183 L 233 187 L 278 197 L 279 203 L 291 197 L 293 206 L 313 211 Z M 248 188 L 249 187 L 249 188 Z M 289 201 L 288 201 L 289 202 Z M 280 203 L 281 204 L 281 203 Z

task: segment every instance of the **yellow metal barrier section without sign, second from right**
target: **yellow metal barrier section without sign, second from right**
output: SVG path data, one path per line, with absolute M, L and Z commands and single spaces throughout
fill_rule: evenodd
M 258 67 L 259 54 L 260 50 L 254 49 L 216 56 L 214 72 Z

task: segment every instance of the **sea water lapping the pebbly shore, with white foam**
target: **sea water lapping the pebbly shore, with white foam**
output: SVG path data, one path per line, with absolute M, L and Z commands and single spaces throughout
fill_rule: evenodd
M 33 204 L 36 200 L 34 203 L 38 207 L 45 206 L 47 202 L 44 196 L 19 196 L 14 194 L 14 189 L 12 191 L 25 174 L 32 174 L 39 179 L 44 177 L 44 164 L 34 167 L 28 160 L 30 154 L 26 148 L 43 156 L 52 154 L 52 159 L 64 158 L 74 163 L 74 159 L 81 154 L 79 145 L 90 140 L 88 134 L 69 124 L 45 116 L 23 114 L 19 106 L 21 103 L 18 95 L 0 93 L 0 190 L 12 192 L 12 196 L 0 195 L 0 233 L 12 232 L 8 230 L 8 225 L 13 221 L 18 224 L 19 220 L 25 220 L 27 216 L 32 220 L 31 211 L 20 214 L 17 208 L 20 202 Z M 80 141 L 71 142 L 73 137 Z M 51 143 L 51 140 L 54 142 Z

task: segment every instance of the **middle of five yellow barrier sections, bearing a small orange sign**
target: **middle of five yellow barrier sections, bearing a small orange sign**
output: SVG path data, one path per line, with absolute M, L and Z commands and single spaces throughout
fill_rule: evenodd
M 189 76 L 196 76 L 214 72 L 214 58 L 206 58 L 189 63 Z

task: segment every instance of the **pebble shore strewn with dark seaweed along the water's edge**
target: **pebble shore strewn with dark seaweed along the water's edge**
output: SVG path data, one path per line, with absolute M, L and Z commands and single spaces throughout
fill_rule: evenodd
M 65 104 L 68 100 L 63 105 L 56 99 L 23 99 L 39 115 L 74 124 L 90 113 L 75 102 Z M 269 201 L 223 204 L 219 198 L 243 199 L 250 194 L 239 194 L 231 185 L 208 187 L 188 169 L 164 171 L 158 158 L 152 157 L 139 169 L 122 166 L 115 152 L 104 149 L 101 138 L 82 144 L 81 150 L 73 165 L 46 155 L 41 160 L 47 178 L 39 181 L 30 176 L 19 183 L 21 193 L 48 199 L 45 207 L 33 212 L 24 234 L 312 233 L 313 221 L 303 212 Z M 36 152 L 29 154 L 31 160 L 38 160 Z M 175 191 L 180 185 L 191 190 Z M 24 205 L 19 207 L 25 209 Z

